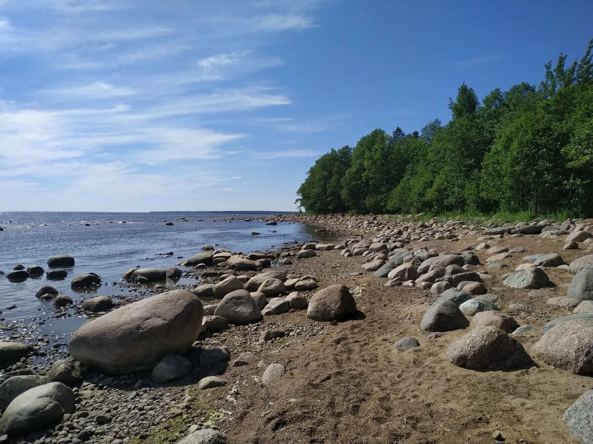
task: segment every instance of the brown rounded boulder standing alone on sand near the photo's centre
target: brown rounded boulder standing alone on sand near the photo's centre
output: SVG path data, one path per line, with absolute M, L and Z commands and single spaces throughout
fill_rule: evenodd
M 317 291 L 309 301 L 307 317 L 315 321 L 336 321 L 358 313 L 356 301 L 346 285 L 330 285 Z

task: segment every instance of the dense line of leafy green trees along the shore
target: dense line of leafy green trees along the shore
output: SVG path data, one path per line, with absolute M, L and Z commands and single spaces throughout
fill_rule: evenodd
M 480 103 L 463 83 L 451 120 L 422 131 L 375 129 L 331 149 L 299 187 L 311 213 L 593 215 L 593 39 L 567 66 L 560 53 L 539 85 L 493 89 Z

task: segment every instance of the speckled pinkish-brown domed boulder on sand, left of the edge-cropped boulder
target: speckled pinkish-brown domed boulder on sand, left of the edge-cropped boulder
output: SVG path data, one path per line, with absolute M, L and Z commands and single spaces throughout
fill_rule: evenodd
M 493 326 L 480 326 L 453 342 L 447 359 L 458 367 L 472 370 L 511 370 L 530 364 L 523 346 Z

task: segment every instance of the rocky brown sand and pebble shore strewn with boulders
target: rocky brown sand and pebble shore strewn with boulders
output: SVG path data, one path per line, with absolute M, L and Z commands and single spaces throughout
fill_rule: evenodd
M 117 285 L 136 294 L 94 301 L 69 353 L 42 363 L 43 340 L 5 338 L 21 346 L 0 343 L 13 361 L 0 440 L 590 442 L 590 221 L 264 220 L 333 239 L 250 255 L 204 246 L 181 268 L 130 269 Z M 152 283 L 164 276 L 199 285 Z M 28 399 L 53 400 L 53 416 L 24 411 Z

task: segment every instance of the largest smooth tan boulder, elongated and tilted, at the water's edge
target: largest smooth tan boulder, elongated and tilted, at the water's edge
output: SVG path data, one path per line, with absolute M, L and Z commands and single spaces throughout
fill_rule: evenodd
M 73 358 L 111 374 L 152 369 L 165 355 L 181 355 L 202 328 L 195 294 L 168 291 L 124 305 L 83 324 L 70 340 Z

